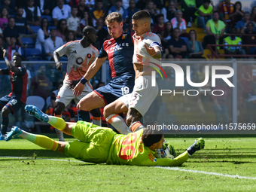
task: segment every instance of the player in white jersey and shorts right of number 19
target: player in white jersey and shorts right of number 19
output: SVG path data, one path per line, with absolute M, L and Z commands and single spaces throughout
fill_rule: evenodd
M 120 97 L 107 105 L 104 115 L 111 125 L 122 127 L 120 130 L 136 131 L 142 128 L 142 116 L 148 111 L 151 103 L 157 97 L 158 87 L 151 87 L 150 66 L 161 66 L 161 41 L 158 35 L 151 32 L 151 16 L 148 11 L 138 11 L 132 17 L 134 41 L 133 65 L 136 80 L 133 93 Z M 126 123 L 118 114 L 127 111 Z M 138 129 L 139 130 L 139 129 Z

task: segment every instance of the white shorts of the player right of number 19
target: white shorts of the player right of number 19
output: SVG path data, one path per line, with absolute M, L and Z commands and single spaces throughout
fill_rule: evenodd
M 135 108 L 142 116 L 148 111 L 158 94 L 158 86 L 151 86 L 151 76 L 140 76 L 136 79 L 133 93 L 121 96 L 119 100 L 127 108 Z

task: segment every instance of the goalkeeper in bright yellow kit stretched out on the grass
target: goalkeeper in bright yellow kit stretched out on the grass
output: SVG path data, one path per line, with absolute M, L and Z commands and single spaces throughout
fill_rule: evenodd
M 15 126 L 6 136 L 6 141 L 20 137 L 42 148 L 59 151 L 69 157 L 86 162 L 136 166 L 180 166 L 190 155 L 204 148 L 204 140 L 200 138 L 196 139 L 194 144 L 187 148 L 187 151 L 173 160 L 156 158 L 155 151 L 162 148 L 164 142 L 163 133 L 159 130 L 145 129 L 121 135 L 114 133 L 109 128 L 84 121 L 65 122 L 62 118 L 44 114 L 33 105 L 26 105 L 25 110 L 39 120 L 50 123 L 56 129 L 69 136 L 74 136 L 78 140 L 56 142 L 47 136 L 27 133 Z

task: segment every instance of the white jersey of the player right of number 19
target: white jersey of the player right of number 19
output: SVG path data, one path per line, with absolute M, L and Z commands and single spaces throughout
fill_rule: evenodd
M 154 59 L 146 50 L 147 47 L 154 47 L 161 44 L 161 40 L 157 34 L 153 32 L 146 32 L 141 36 L 133 35 L 134 54 L 133 63 L 138 63 L 145 66 L 156 66 L 153 63 L 162 66 L 161 59 Z

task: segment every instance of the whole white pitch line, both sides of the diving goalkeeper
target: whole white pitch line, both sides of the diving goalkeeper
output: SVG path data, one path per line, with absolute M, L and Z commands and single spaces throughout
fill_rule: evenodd
M 3 158 L 15 158 L 15 159 L 29 159 L 34 160 L 32 157 L 11 157 L 11 156 L 0 156 Z M 56 161 L 67 161 L 67 162 L 84 162 L 81 160 L 60 160 L 60 159 L 44 159 L 44 158 L 37 158 L 38 160 L 56 160 Z M 36 160 L 36 159 L 35 159 Z M 180 169 L 178 167 L 169 167 L 169 166 L 154 166 L 155 168 L 160 169 L 169 169 L 173 171 L 180 171 L 180 172 L 194 172 L 194 173 L 202 173 L 206 175 L 217 175 L 221 177 L 227 177 L 227 178 L 245 178 L 245 179 L 253 179 L 256 180 L 256 177 L 246 177 L 246 176 L 240 176 L 240 175 L 229 175 L 229 174 L 223 174 L 219 172 L 204 172 L 204 171 L 198 171 L 198 170 L 191 170 L 191 169 Z

